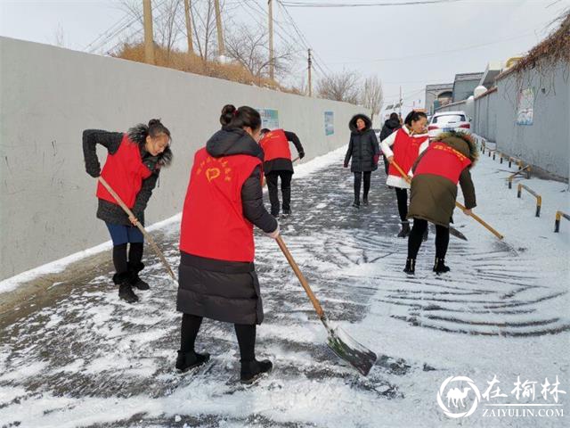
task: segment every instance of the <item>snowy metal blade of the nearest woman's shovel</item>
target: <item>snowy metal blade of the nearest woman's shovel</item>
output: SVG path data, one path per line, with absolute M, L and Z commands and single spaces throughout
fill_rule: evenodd
M 329 348 L 360 373 L 368 374 L 376 362 L 376 354 L 361 343 L 356 342 L 342 327 L 338 325 L 332 327 L 324 319 L 322 322 L 329 332 Z

